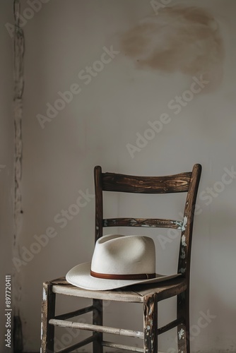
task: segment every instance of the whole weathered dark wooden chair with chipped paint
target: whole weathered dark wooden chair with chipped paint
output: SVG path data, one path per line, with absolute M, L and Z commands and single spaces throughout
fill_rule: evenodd
M 189 273 L 191 256 L 191 237 L 194 223 L 196 194 L 201 177 L 201 165 L 195 164 L 192 172 L 184 172 L 167 177 L 134 177 L 124 174 L 102 173 L 101 167 L 95 167 L 95 241 L 102 237 L 103 227 L 164 227 L 180 229 L 177 277 L 155 285 L 139 285 L 111 291 L 90 291 L 74 287 L 65 277 L 43 284 L 42 301 L 42 338 L 41 352 L 54 352 L 54 326 L 78 328 L 93 331 L 93 335 L 71 347 L 61 349 L 60 353 L 73 352 L 93 342 L 93 352 L 102 353 L 103 347 L 131 350 L 132 352 L 158 352 L 158 335 L 177 326 L 177 345 L 179 353 L 189 353 Z M 125 193 L 187 193 L 184 217 L 182 221 L 144 218 L 104 219 L 102 212 L 102 192 L 117 191 Z M 55 316 L 57 294 L 93 299 L 93 304 L 83 309 Z M 158 328 L 158 301 L 177 296 L 177 318 Z M 102 300 L 143 304 L 143 332 L 122 330 L 102 325 Z M 69 321 L 69 318 L 83 313 L 93 313 L 93 324 Z M 143 349 L 106 342 L 102 333 L 112 333 L 143 339 Z

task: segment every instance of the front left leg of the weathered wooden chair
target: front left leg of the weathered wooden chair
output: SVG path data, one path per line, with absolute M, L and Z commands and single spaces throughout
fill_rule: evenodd
M 55 316 L 56 294 L 52 292 L 52 283 L 43 284 L 42 322 L 40 353 L 54 352 L 54 325 L 49 325 L 50 318 Z

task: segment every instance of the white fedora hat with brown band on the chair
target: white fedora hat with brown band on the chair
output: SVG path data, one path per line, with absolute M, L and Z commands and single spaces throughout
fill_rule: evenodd
M 155 273 L 155 244 L 141 235 L 110 234 L 98 239 L 91 263 L 81 263 L 66 274 L 67 282 L 90 290 L 170 280 L 175 275 Z

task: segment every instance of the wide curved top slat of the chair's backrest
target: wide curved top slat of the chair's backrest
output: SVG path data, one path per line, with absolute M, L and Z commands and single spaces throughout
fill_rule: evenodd
M 126 193 L 187 192 L 191 172 L 167 177 L 137 177 L 126 174 L 102 173 L 102 190 Z

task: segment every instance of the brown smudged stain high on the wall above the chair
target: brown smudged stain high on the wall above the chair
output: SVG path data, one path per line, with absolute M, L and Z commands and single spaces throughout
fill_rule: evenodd
M 207 90 L 217 88 L 223 78 L 219 26 L 203 8 L 165 7 L 125 32 L 121 47 L 138 68 L 202 75 L 210 81 Z

